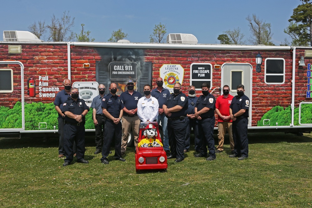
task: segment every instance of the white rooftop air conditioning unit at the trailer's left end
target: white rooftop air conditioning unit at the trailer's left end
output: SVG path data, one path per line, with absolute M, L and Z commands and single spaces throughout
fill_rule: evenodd
M 3 31 L 3 41 L 43 42 L 28 31 Z

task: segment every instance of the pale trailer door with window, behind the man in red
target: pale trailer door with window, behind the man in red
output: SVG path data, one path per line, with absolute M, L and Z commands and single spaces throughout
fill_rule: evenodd
M 230 94 L 237 95 L 237 85 L 244 85 L 245 95 L 250 99 L 248 126 L 251 126 L 252 66 L 250 64 L 225 63 L 221 67 L 221 87 L 230 86 Z M 222 93 L 222 91 L 221 91 Z

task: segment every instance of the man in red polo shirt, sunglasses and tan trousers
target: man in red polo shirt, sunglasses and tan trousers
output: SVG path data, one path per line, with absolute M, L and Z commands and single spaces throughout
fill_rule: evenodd
M 233 96 L 230 95 L 230 87 L 228 85 L 223 86 L 223 94 L 216 100 L 216 113 L 218 114 L 218 140 L 219 145 L 216 153 L 223 152 L 224 134 L 229 133 L 230 147 L 233 153 L 234 141 L 232 134 L 232 120 L 230 118 L 230 104 L 232 103 Z

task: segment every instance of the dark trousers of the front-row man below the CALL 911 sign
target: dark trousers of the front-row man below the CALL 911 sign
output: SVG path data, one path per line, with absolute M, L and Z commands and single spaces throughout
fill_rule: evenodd
M 121 129 L 121 122 L 115 124 L 111 119 L 106 119 L 101 161 L 107 160 L 113 138 L 115 138 L 115 158 L 121 157 Z

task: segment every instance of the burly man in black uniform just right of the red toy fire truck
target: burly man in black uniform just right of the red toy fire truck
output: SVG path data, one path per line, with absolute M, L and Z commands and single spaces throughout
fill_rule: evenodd
M 184 160 L 185 122 L 188 110 L 188 98 L 181 92 L 181 84 L 173 85 L 173 93 L 163 104 L 163 111 L 168 118 L 167 130 L 171 155 L 168 159 L 176 158 L 175 162 Z

